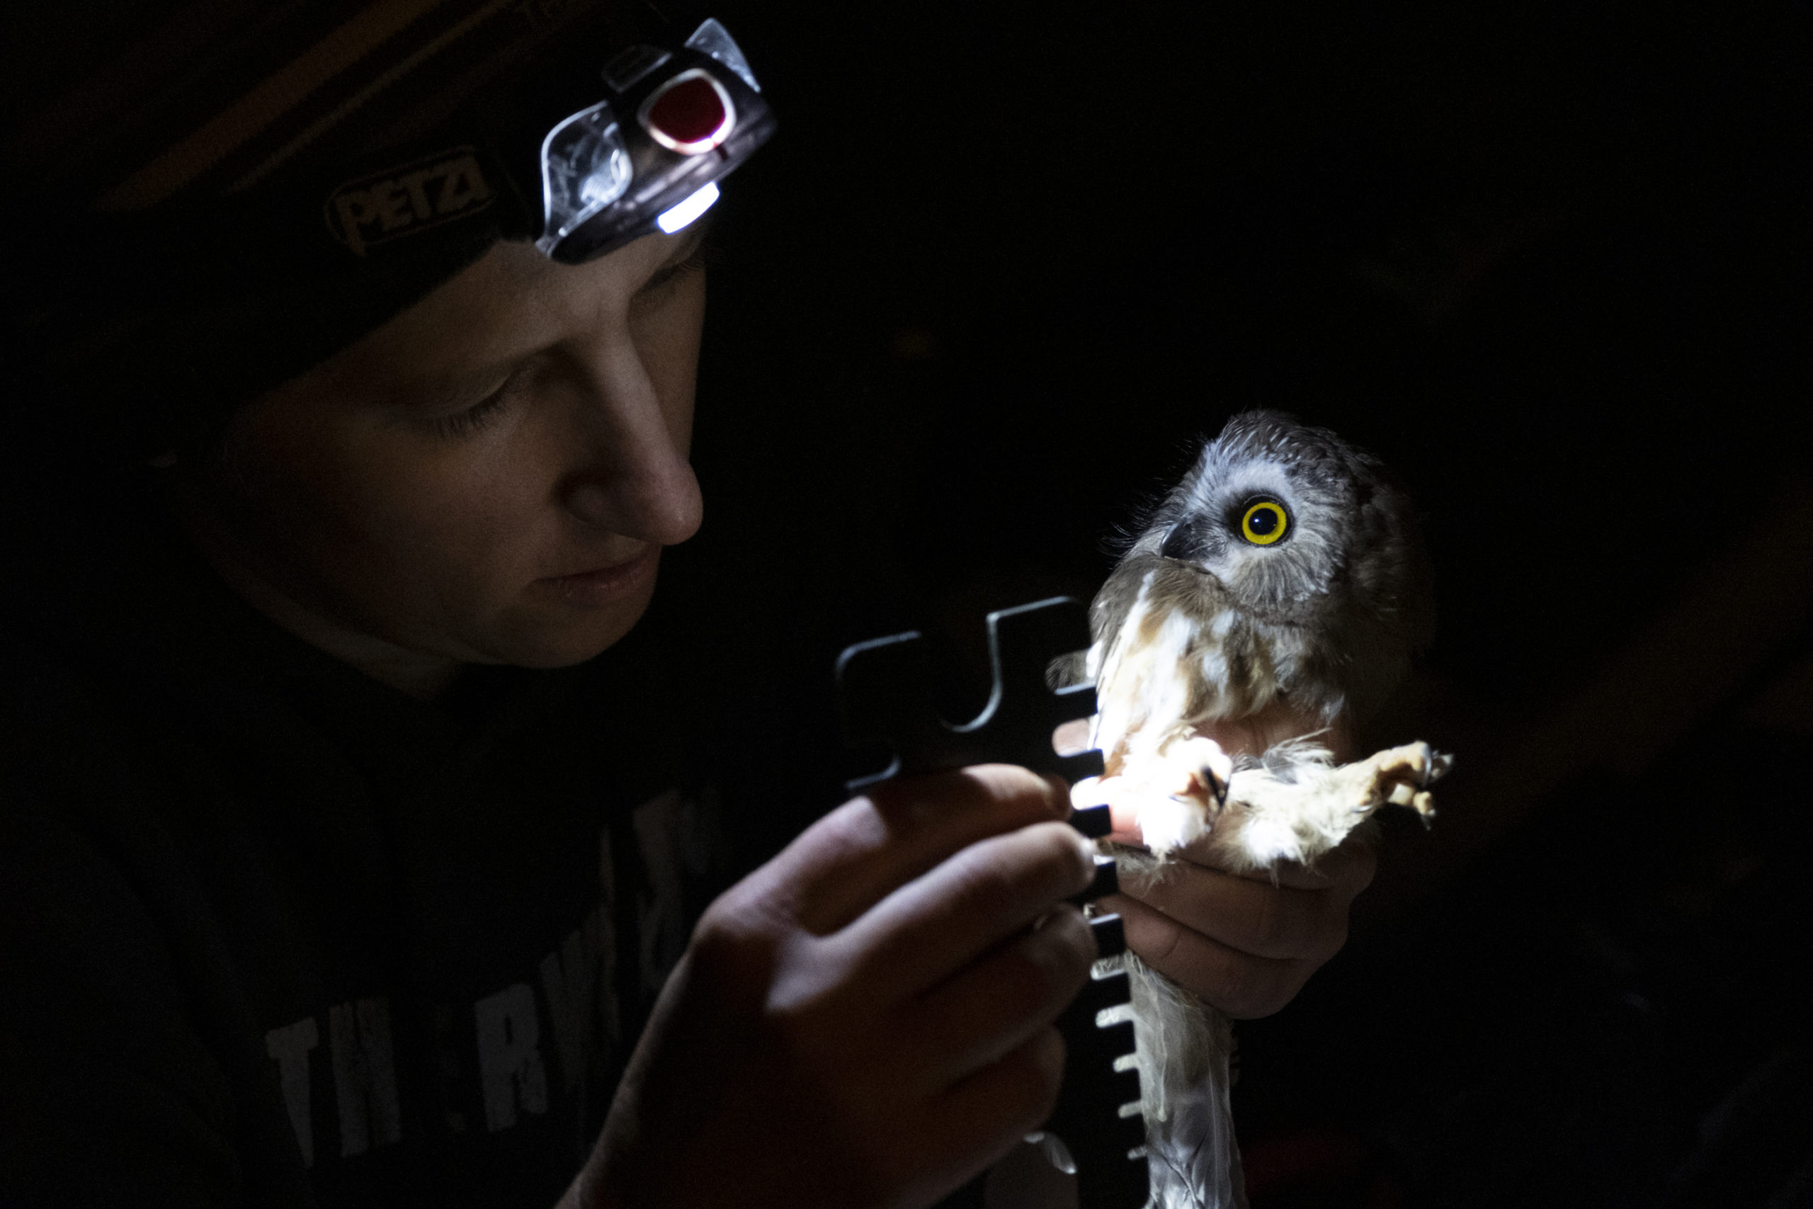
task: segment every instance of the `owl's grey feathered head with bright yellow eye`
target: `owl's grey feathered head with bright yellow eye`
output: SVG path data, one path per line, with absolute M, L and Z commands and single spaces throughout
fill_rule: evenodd
M 1211 629 L 1238 622 L 1276 691 L 1331 716 L 1371 712 L 1432 634 L 1409 497 L 1378 459 L 1282 411 L 1236 415 L 1202 448 L 1097 600 L 1099 634 L 1140 585 Z

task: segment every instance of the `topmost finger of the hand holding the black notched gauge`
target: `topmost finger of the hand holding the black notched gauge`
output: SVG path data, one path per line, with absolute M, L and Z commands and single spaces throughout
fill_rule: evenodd
M 1068 810 L 1059 781 L 1012 765 L 888 781 L 809 827 L 761 875 L 803 928 L 829 935 L 954 852 Z

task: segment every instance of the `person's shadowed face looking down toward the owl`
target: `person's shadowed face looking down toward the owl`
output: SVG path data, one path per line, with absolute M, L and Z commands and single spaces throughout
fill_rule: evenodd
M 700 524 L 700 237 L 582 266 L 499 245 L 239 411 L 221 466 L 183 477 L 198 540 L 328 649 L 526 667 L 604 651 L 647 607 L 662 546 Z

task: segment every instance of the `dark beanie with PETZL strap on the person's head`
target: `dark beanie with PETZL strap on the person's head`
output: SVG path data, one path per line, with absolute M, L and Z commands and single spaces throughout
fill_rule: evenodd
M 653 33 L 629 0 L 114 0 L 5 22 L 11 359 L 36 406 L 134 453 L 533 237 L 538 198 L 511 185 L 535 179 L 526 132 Z

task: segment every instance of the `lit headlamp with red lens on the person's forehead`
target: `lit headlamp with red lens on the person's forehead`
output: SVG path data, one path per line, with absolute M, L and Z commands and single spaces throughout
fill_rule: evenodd
M 535 247 L 562 265 L 680 230 L 774 132 L 749 60 L 716 20 L 671 51 L 629 47 L 602 78 L 604 98 L 542 138 Z

